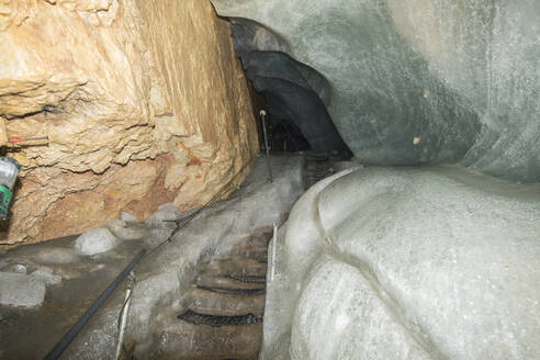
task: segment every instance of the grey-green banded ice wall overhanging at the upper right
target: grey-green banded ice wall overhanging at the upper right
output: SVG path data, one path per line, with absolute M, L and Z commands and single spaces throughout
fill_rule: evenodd
M 212 2 L 327 78 L 330 116 L 360 159 L 540 179 L 540 2 Z

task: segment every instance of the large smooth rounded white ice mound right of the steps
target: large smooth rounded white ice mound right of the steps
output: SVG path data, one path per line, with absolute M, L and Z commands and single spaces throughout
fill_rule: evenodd
M 539 234 L 539 185 L 459 167 L 326 179 L 280 229 L 262 357 L 538 359 Z

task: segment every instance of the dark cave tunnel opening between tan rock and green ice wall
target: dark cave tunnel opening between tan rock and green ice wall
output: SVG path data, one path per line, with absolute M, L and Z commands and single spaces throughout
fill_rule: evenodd
M 257 23 L 236 19 L 230 30 L 246 77 L 265 100 L 273 150 L 350 154 L 327 111 L 331 90 L 326 79 L 283 52 L 259 50 L 261 33 L 278 49 L 280 40 Z

